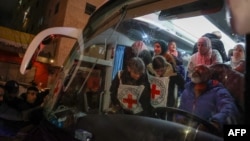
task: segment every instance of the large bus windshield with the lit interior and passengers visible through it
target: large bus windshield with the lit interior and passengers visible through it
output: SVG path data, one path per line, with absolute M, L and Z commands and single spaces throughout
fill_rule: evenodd
M 154 6 L 163 9 L 161 2 Z M 175 140 L 198 134 L 221 140 L 223 125 L 244 123 L 245 38 L 229 30 L 220 3 L 213 9 L 177 2 L 166 10 L 142 3 L 117 2 L 113 11 L 93 14 L 82 34 L 74 30 L 76 43 L 53 74 L 44 103 L 47 120 L 77 134 L 84 129 L 97 140 L 110 139 L 109 132 L 121 138 L 116 124 L 126 133 L 135 128 Z M 133 133 L 134 140 L 150 140 L 145 132 Z

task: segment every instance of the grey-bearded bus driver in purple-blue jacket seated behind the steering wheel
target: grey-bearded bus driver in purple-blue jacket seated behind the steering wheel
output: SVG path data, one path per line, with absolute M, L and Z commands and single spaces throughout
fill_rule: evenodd
M 211 122 L 219 131 L 222 131 L 224 124 L 238 123 L 240 117 L 233 97 L 221 83 L 210 79 L 210 69 L 205 65 L 194 67 L 179 108 Z M 176 119 L 187 124 L 182 116 Z

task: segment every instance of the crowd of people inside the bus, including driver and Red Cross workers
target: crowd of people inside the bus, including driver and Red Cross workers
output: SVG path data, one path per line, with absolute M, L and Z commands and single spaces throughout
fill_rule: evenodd
M 124 59 L 123 70 L 117 73 L 111 84 L 112 113 L 180 120 L 184 123 L 179 116 L 159 110 L 174 107 L 196 114 L 218 129 L 223 124 L 240 123 L 244 114 L 240 103 L 242 99 L 235 96 L 230 86 L 213 73 L 216 67 L 226 65 L 230 72 L 244 77 L 245 50 L 242 44 L 236 44 L 232 56 L 227 57 L 220 38 L 218 31 L 201 36 L 195 43 L 187 66 L 183 64 L 182 54 L 174 40 L 168 43 L 155 41 L 153 51 L 142 41 L 136 41 L 128 48 L 130 53 L 124 56 L 127 59 Z M 219 66 L 213 67 L 212 71 L 212 66 L 217 64 Z M 226 69 L 221 70 L 230 75 Z M 244 83 L 240 84 L 239 87 L 243 88 Z

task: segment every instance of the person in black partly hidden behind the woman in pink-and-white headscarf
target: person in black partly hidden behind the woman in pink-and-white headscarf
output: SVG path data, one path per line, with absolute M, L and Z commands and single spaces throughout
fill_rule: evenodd
M 206 33 L 202 37 L 208 37 L 211 40 L 212 49 L 216 49 L 219 51 L 223 62 L 228 61 L 228 57 L 226 54 L 224 43 L 221 41 L 222 35 L 221 35 L 220 31 L 213 31 L 212 33 Z M 197 48 L 197 43 L 196 43 L 194 48 L 193 48 L 193 54 L 196 53 L 197 51 L 198 51 L 198 48 Z

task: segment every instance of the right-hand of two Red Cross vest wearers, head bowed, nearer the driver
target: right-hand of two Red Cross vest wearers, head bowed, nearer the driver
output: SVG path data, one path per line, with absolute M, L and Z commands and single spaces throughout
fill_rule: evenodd
M 151 105 L 156 109 L 157 116 L 165 119 L 165 112 L 157 111 L 157 108 L 175 107 L 177 105 L 177 89 L 175 86 L 183 89 L 185 81 L 180 74 L 174 72 L 172 65 L 161 55 L 153 58 L 152 67 L 155 73 L 153 76 L 149 75 Z M 172 115 L 169 115 L 167 119 L 172 120 Z

